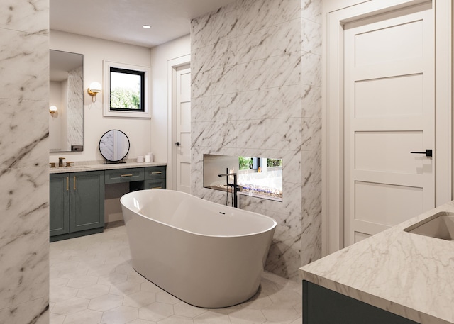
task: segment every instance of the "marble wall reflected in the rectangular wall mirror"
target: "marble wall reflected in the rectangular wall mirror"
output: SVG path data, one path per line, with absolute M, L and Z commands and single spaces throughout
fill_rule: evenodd
M 67 150 L 72 145 L 84 145 L 82 138 L 84 111 L 84 79 L 82 66 L 68 72 L 67 87 Z

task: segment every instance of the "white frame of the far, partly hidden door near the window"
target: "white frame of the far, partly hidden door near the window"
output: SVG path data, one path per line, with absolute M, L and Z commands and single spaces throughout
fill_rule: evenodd
M 175 132 L 175 101 L 177 98 L 175 80 L 177 79 L 177 68 L 183 65 L 191 64 L 191 55 L 184 55 L 167 61 L 167 189 L 176 190 L 175 177 L 177 161 L 173 158 L 176 146 L 174 145 Z M 170 166 L 170 167 L 169 167 Z

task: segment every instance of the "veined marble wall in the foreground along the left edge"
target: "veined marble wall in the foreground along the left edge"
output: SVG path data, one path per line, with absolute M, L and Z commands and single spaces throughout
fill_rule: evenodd
M 49 1 L 0 4 L 0 323 L 49 323 Z

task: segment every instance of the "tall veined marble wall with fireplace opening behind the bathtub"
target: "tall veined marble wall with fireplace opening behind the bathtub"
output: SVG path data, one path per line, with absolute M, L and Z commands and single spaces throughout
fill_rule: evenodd
M 277 220 L 266 269 L 297 279 L 321 257 L 321 0 L 237 0 L 192 21 L 192 194 L 203 155 L 284 160 L 283 201 L 240 196 Z

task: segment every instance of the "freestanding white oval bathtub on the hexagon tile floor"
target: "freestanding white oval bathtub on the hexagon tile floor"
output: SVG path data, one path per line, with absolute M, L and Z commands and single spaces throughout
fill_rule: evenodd
M 133 268 L 194 306 L 221 308 L 258 291 L 272 218 L 171 190 L 121 197 Z

